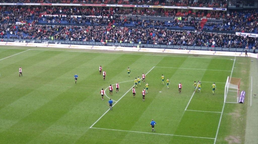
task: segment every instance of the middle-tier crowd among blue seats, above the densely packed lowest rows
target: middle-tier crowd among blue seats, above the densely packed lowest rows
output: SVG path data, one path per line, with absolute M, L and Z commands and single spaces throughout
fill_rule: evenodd
M 204 12 L 196 12 L 204 13 Z M 207 12 L 206 12 L 207 13 Z M 205 13 L 205 14 L 206 14 Z M 152 20 L 141 19 L 138 16 L 129 17 L 128 15 L 146 15 L 170 17 L 171 19 Z M 163 28 L 183 28 L 200 30 L 200 21 L 188 19 L 191 13 L 187 13 L 182 20 L 178 20 L 175 10 L 165 11 L 162 8 L 150 10 L 148 8 L 135 10 L 119 9 L 119 7 L 48 7 L 39 8 L 37 6 L 5 6 L 0 7 L 0 21 L 2 23 L 27 22 L 37 24 L 84 24 L 84 25 L 115 25 L 115 26 L 141 26 L 141 27 L 163 27 Z M 81 16 L 81 17 L 77 17 Z M 225 17 L 223 23 L 206 23 L 204 30 L 220 30 L 233 32 L 258 33 L 258 12 L 257 10 L 246 10 L 241 12 L 221 13 L 211 12 L 211 17 L 217 19 Z M 100 17 L 88 17 L 100 16 Z

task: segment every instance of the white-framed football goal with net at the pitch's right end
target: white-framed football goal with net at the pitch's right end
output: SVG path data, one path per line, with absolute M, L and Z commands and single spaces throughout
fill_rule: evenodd
M 224 102 L 237 103 L 241 78 L 228 77 L 225 85 Z

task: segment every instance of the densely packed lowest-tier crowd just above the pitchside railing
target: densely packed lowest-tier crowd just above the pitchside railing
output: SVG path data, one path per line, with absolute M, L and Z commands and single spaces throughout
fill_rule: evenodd
M 253 48 L 258 45 L 258 38 L 253 37 L 189 31 L 173 32 L 166 28 L 1 24 L 0 32 L 1 38 L 13 34 L 10 38 L 234 48 Z

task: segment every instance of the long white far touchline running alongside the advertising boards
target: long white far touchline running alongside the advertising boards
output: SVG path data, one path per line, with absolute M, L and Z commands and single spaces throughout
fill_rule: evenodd
M 0 48 L 3 48 L 3 47 L 0 47 Z M 5 49 L 22 49 L 22 48 L 5 48 Z M 84 51 L 71 51 L 71 50 L 51 50 L 51 49 L 30 49 L 30 50 L 48 50 L 48 51 L 60 51 L 60 52 L 83 52 L 83 53 L 101 53 L 101 54 L 125 54 L 125 53 L 84 52 Z M 166 53 L 166 54 L 169 54 L 169 53 Z M 127 54 L 127 55 L 144 55 L 144 54 Z M 145 55 L 145 56 L 188 57 L 188 56 L 171 56 L 171 55 Z M 230 59 L 230 58 L 190 57 L 190 56 L 189 58 Z

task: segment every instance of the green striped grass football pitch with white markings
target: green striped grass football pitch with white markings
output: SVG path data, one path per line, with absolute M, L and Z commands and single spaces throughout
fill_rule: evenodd
M 244 143 L 247 104 L 224 104 L 224 87 L 228 76 L 242 78 L 250 95 L 248 69 L 245 57 L 1 46 L 0 143 Z

